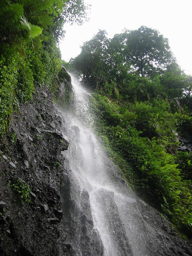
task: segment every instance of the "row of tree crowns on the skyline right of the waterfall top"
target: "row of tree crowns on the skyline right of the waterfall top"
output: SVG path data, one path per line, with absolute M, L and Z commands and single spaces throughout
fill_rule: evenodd
M 174 98 L 188 91 L 189 77 L 176 63 L 168 39 L 155 29 L 144 26 L 132 31 L 125 29 L 112 39 L 108 39 L 106 31 L 100 30 L 81 49 L 81 53 L 70 63 L 92 88 L 98 89 L 106 82 L 114 81 L 120 85 L 120 90 L 132 94 L 130 90 L 135 88 L 133 81 L 136 76 L 137 81 L 141 80 L 142 76 L 156 81 L 156 84 L 152 83 L 154 86 L 148 87 L 146 97 L 161 92 L 166 97 Z M 138 86 L 142 92 L 142 86 Z

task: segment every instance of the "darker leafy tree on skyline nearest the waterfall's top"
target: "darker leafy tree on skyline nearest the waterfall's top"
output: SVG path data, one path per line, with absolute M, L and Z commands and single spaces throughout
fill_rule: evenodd
M 130 69 L 130 65 L 124 63 L 121 46 L 108 39 L 104 30 L 99 30 L 81 49 L 70 63 L 83 75 L 84 82 L 93 88 L 99 88 L 106 81 L 119 81 L 123 70 L 127 72 Z

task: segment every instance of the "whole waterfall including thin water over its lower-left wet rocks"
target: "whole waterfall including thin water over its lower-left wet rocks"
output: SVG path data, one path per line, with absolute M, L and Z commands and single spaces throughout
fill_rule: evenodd
M 70 171 L 64 174 L 61 191 L 63 236 L 70 255 L 165 255 L 150 242 L 161 246 L 143 215 L 148 206 L 132 193 L 92 132 L 97 117 L 89 109 L 91 95 L 71 77 L 73 104 L 60 110 L 70 142 L 64 153 Z

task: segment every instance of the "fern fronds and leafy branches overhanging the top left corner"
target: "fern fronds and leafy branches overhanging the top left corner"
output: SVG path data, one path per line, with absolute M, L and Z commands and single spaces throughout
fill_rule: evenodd
M 0 7 L 0 44 L 18 46 L 43 30 L 49 30 L 59 42 L 65 33 L 63 24 L 82 24 L 88 10 L 84 0 L 3 0 Z

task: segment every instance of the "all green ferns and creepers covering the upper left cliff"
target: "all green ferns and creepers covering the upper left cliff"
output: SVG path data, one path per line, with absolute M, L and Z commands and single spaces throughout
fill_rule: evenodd
M 32 100 L 34 87 L 56 94 L 68 74 L 62 69 L 59 39 L 63 24 L 82 23 L 80 0 L 4 0 L 0 4 L 0 140 L 19 102 Z

